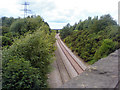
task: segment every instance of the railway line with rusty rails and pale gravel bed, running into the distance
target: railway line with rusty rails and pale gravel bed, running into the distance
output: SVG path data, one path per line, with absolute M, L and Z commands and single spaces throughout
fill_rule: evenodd
M 73 55 L 73 53 L 62 42 L 59 34 L 56 35 L 56 39 L 56 65 L 54 66 L 56 66 L 55 68 L 57 71 L 50 76 L 51 80 L 49 82 L 52 83 L 52 88 L 57 88 L 63 85 L 70 79 L 80 75 L 86 69 L 86 66 L 75 55 Z M 56 81 L 57 78 L 58 81 Z

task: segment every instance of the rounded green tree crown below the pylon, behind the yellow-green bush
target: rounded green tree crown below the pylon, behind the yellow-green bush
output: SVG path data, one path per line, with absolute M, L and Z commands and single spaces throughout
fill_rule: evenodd
M 19 35 L 24 35 L 24 33 L 28 31 L 36 31 L 41 26 L 44 27 L 46 26 L 46 24 L 39 16 L 37 16 L 36 18 L 18 19 L 12 23 L 12 25 L 10 26 L 10 31 L 13 33 L 18 33 Z

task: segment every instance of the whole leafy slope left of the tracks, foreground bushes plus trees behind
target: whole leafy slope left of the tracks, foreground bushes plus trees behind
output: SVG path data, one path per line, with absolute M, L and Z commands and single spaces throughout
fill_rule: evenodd
M 4 36 L 2 69 L 3 89 L 39 89 L 47 87 L 47 73 L 53 61 L 55 33 L 40 16 L 17 19 Z

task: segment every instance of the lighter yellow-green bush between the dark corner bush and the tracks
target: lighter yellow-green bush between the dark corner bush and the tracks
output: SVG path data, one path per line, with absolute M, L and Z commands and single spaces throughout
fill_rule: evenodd
M 44 64 L 49 64 L 48 60 L 52 55 L 50 52 L 54 49 L 51 48 L 52 45 L 49 41 L 49 35 L 45 37 L 43 31 L 36 31 L 16 40 L 10 48 L 10 52 L 13 56 L 17 55 L 29 60 L 34 67 L 43 68 Z M 46 63 L 44 63 L 44 60 L 46 60 Z

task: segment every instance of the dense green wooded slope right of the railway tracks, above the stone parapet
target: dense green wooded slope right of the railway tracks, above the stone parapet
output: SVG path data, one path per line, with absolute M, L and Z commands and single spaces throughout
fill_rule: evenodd
M 106 57 L 120 48 L 120 27 L 107 14 L 98 17 L 88 17 L 73 26 L 67 24 L 60 32 L 63 41 L 76 52 L 80 58 L 89 64 Z

